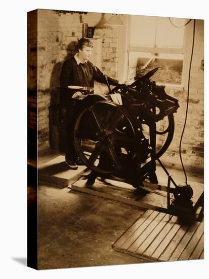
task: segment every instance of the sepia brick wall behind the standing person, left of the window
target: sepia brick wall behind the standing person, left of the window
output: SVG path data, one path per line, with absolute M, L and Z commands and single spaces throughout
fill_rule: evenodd
M 37 78 L 38 78 L 38 145 L 49 145 L 49 106 L 59 102 L 62 63 L 77 52 L 77 38 L 82 37 L 82 22 L 96 26 L 95 35 L 102 37 L 102 71 L 117 76 L 118 27 L 101 27 L 111 15 L 75 14 L 38 10 Z M 72 33 L 73 37 L 72 37 Z M 104 88 L 104 90 L 107 87 Z

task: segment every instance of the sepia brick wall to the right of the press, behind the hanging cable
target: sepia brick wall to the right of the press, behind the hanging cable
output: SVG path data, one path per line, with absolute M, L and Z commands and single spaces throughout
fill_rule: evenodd
M 187 125 L 182 140 L 182 158 L 187 169 L 202 170 L 204 156 L 204 73 L 200 69 L 204 59 L 203 20 L 196 20 L 195 42 L 190 75 L 189 107 Z M 169 92 L 170 91 L 170 92 Z M 179 164 L 178 147 L 186 112 L 187 90 L 168 90 L 179 99 L 180 108 L 175 114 L 176 131 L 168 155 L 174 164 Z

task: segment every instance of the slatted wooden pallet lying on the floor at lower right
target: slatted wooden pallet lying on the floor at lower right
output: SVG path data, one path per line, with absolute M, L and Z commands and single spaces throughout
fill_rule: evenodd
M 203 259 L 204 225 L 147 210 L 113 244 L 113 249 L 149 261 Z

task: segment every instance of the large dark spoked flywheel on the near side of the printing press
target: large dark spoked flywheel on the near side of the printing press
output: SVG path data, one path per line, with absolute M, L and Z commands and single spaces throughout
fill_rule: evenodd
M 83 163 L 96 172 L 121 172 L 136 156 L 137 127 L 121 106 L 95 97 L 86 98 L 75 120 L 75 150 Z

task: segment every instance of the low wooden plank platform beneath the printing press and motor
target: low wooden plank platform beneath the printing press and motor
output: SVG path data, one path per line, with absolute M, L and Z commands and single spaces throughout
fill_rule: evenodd
M 163 186 L 154 185 L 148 182 L 144 182 L 144 184 L 145 189 L 151 189 L 151 192 L 147 192 L 146 195 L 141 194 L 130 184 L 110 179 L 99 180 L 98 178 L 93 185 L 88 185 L 87 180 L 84 177 L 73 183 L 71 189 L 103 198 L 108 198 L 111 200 L 136 205 L 140 208 L 151 209 L 165 214 L 172 214 L 175 216 L 190 218 L 193 220 L 201 220 L 203 211 L 203 207 L 200 204 L 203 193 L 203 185 L 201 183 L 191 182 L 191 184 L 194 186 L 192 207 L 183 207 L 172 204 L 169 208 L 167 207 L 166 192 L 157 190 L 163 188 Z

